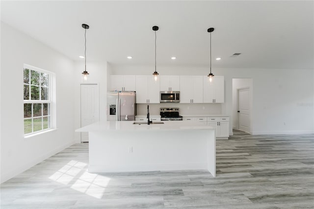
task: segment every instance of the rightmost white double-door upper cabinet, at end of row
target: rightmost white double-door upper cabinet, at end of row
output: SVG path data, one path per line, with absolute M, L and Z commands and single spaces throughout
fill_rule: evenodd
M 204 103 L 224 103 L 225 102 L 225 78 L 223 76 L 214 76 L 209 81 L 207 76 L 204 79 Z

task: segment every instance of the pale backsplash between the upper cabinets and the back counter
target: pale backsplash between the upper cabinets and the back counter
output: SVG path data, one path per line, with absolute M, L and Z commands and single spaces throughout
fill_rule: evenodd
M 221 104 L 180 104 L 160 103 L 148 104 L 151 115 L 159 115 L 160 107 L 179 107 L 181 115 L 221 114 Z M 147 114 L 147 104 L 137 104 L 137 115 Z

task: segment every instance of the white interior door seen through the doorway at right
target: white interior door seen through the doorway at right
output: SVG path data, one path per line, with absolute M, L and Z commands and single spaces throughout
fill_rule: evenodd
M 250 132 L 250 89 L 243 88 L 238 90 L 238 127 L 239 131 Z

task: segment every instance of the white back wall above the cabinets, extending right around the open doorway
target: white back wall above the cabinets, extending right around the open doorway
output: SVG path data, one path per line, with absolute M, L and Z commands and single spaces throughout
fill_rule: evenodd
M 154 66 L 113 65 L 113 75 L 151 75 Z M 208 75 L 202 67 L 157 67 L 159 75 Z M 225 77 L 221 113 L 232 119 L 232 79 L 253 79 L 252 134 L 314 132 L 313 69 L 212 69 Z M 284 122 L 286 125 L 284 125 Z M 230 133 L 232 133 L 232 123 Z

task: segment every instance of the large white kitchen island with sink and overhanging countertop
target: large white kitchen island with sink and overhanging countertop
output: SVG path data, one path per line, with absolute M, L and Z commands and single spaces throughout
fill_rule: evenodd
M 89 133 L 91 173 L 206 169 L 216 176 L 215 130 L 190 121 L 97 122 Z

